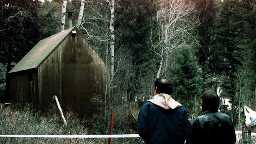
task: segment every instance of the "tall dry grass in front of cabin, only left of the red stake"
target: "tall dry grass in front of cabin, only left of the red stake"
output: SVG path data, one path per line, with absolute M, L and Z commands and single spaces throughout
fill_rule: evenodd
M 58 109 L 51 107 L 48 114 L 39 115 L 30 105 L 10 106 L 0 109 L 1 135 L 87 135 L 88 129 L 82 119 L 74 113 L 66 113 L 68 127 L 63 122 Z M 1 144 L 98 144 L 105 143 L 105 139 L 94 138 L 0 138 Z

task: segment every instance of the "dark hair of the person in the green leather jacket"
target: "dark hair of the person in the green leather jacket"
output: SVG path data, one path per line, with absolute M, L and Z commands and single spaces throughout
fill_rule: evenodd
M 219 109 L 219 96 L 213 90 L 206 90 L 202 95 L 202 110 L 211 113 Z

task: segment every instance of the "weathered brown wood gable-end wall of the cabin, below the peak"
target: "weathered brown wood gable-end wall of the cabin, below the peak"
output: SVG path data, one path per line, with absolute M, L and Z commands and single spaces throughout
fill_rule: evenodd
M 38 69 L 41 110 L 56 95 L 62 108 L 78 112 L 96 110 L 90 100 L 104 98 L 105 65 L 77 31 L 69 35 Z

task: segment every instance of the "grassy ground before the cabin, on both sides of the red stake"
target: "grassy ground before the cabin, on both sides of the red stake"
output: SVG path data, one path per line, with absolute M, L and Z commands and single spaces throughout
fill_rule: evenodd
M 126 109 L 116 108 L 120 111 Z M 84 120 L 74 113 L 65 113 L 68 127 L 63 126 L 56 107 L 51 107 L 48 114 L 35 113 L 30 105 L 19 105 L 0 109 L 0 135 L 92 135 L 106 134 L 106 126 L 101 116 L 92 116 Z M 114 115 L 113 134 L 135 133 L 130 129 L 126 116 Z M 89 124 L 89 125 L 88 125 Z M 113 144 L 140 144 L 141 138 L 113 138 Z M 0 144 L 106 144 L 107 138 L 0 138 Z

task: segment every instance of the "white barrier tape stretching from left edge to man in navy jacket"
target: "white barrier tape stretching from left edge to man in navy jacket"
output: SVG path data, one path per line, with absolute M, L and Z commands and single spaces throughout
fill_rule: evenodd
M 0 137 L 28 137 L 28 138 L 131 138 L 138 134 L 128 135 L 0 135 Z

